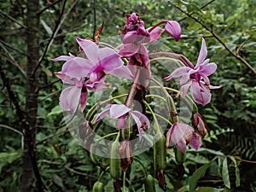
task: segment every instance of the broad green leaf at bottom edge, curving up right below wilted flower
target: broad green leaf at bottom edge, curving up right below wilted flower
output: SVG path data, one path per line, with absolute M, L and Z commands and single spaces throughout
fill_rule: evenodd
M 197 181 L 204 176 L 204 174 L 207 172 L 207 169 L 209 166 L 211 166 L 212 161 L 205 164 L 204 166 L 201 166 L 199 169 L 197 169 L 191 177 L 189 177 L 189 192 L 194 192 L 195 187 L 197 184 Z

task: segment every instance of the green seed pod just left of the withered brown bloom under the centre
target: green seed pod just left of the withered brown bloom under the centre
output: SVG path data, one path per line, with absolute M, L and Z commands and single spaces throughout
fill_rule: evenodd
M 122 170 L 120 166 L 119 158 L 119 142 L 113 142 L 110 150 L 110 163 L 109 163 L 109 172 L 111 177 L 118 179 L 122 176 Z

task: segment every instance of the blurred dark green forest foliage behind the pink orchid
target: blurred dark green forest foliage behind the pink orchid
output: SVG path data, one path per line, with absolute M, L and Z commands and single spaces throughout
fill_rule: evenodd
M 41 55 L 55 32 L 64 3 L 55 2 L 40 1 L 40 8 L 46 8 L 40 15 Z M 17 66 L 26 70 L 25 3 L 24 0 L 0 3 L 1 66 L 21 107 L 25 105 L 26 79 Z M 54 5 L 47 9 L 51 3 Z M 256 166 L 246 161 L 256 160 L 256 79 L 255 73 L 236 58 L 238 53 L 256 68 L 255 8 L 254 0 L 67 0 L 61 27 L 44 57 L 39 79 L 37 152 L 46 188 L 53 192 L 90 191 L 101 172 L 101 167 L 90 162 L 84 148 L 75 143 L 67 131 L 58 107 L 62 84 L 54 75 L 61 70 L 61 63 L 53 63 L 50 59 L 68 52 L 76 54 L 75 37 L 92 38 L 95 24 L 100 27 L 104 22 L 102 40 L 119 35 L 125 25 L 125 14 L 137 12 L 142 15 L 146 27 L 163 19 L 178 20 L 183 29 L 182 38 L 175 42 L 166 36 L 163 42 L 190 61 L 196 61 L 201 47 L 198 34 L 202 34 L 207 41 L 208 57 L 218 65 L 217 72 L 211 76 L 212 84 L 223 85 L 219 90 L 212 90 L 212 102 L 200 108 L 211 131 L 202 143 L 205 149 L 197 153 L 189 150 L 183 177 L 179 177 L 173 149 L 168 149 L 167 191 L 189 191 L 189 184 L 193 182 L 199 186 L 198 191 L 256 191 Z M 89 103 L 88 108 L 92 104 Z M 0 129 L 0 191 L 20 191 L 23 138 L 15 108 L 5 89 L 0 92 Z M 153 174 L 152 154 L 149 150 L 139 158 Z M 197 174 L 204 175 L 199 181 L 200 177 L 195 176 L 198 170 Z M 229 172 L 224 174 L 226 170 Z M 135 160 L 131 169 L 131 191 L 144 190 L 143 177 L 142 167 Z M 103 175 L 102 181 L 106 191 L 113 190 L 108 174 Z

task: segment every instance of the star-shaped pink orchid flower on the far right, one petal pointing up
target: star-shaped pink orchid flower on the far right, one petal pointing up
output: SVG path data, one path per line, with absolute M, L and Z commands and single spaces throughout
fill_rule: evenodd
M 183 56 L 186 67 L 179 67 L 171 73 L 165 80 L 182 76 L 180 84 L 182 85 L 180 95 L 184 98 L 190 88 L 191 95 L 195 102 L 201 105 L 206 105 L 211 101 L 210 89 L 218 89 L 221 86 L 212 86 L 208 76 L 214 73 L 217 65 L 214 62 L 209 62 L 207 59 L 207 45 L 205 39 L 202 38 L 201 50 L 197 58 L 197 63 L 194 65 Z M 202 79 L 204 81 L 202 81 Z

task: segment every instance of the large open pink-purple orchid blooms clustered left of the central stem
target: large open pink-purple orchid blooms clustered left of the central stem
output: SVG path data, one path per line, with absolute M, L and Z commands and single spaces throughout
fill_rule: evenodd
M 87 101 L 87 90 L 101 90 L 107 87 L 106 75 L 132 79 L 133 75 L 128 67 L 125 67 L 121 57 L 113 49 L 99 48 L 94 42 L 77 38 L 80 48 L 87 59 L 79 56 L 61 55 L 52 61 L 66 61 L 61 72 L 55 75 L 63 84 L 70 84 L 61 92 L 61 108 L 75 113 L 77 108 L 84 111 Z

